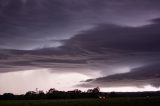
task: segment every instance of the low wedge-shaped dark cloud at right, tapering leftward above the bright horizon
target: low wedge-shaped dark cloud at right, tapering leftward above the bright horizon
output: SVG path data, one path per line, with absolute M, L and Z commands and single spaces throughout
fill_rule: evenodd
M 152 64 L 132 69 L 131 72 L 115 74 L 97 79 L 89 79 L 79 86 L 91 87 L 118 87 L 118 86 L 136 86 L 144 87 L 152 85 L 160 87 L 160 64 Z

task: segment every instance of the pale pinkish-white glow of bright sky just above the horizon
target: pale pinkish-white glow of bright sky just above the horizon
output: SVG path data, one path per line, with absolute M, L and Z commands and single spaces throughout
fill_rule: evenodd
M 0 74 L 0 94 L 14 93 L 24 94 L 27 91 L 34 91 L 36 88 L 43 90 L 44 92 L 50 88 L 57 90 L 68 91 L 76 88 L 86 91 L 89 88 L 76 87 L 82 80 L 90 79 L 91 76 L 87 76 L 79 73 L 63 73 L 55 74 L 51 73 L 47 69 L 41 70 L 28 70 L 10 73 Z M 7 79 L 7 80 L 6 80 Z M 144 88 L 137 87 L 107 87 L 101 88 L 102 92 L 137 92 L 137 91 L 157 91 L 160 88 L 152 86 L 145 86 Z

